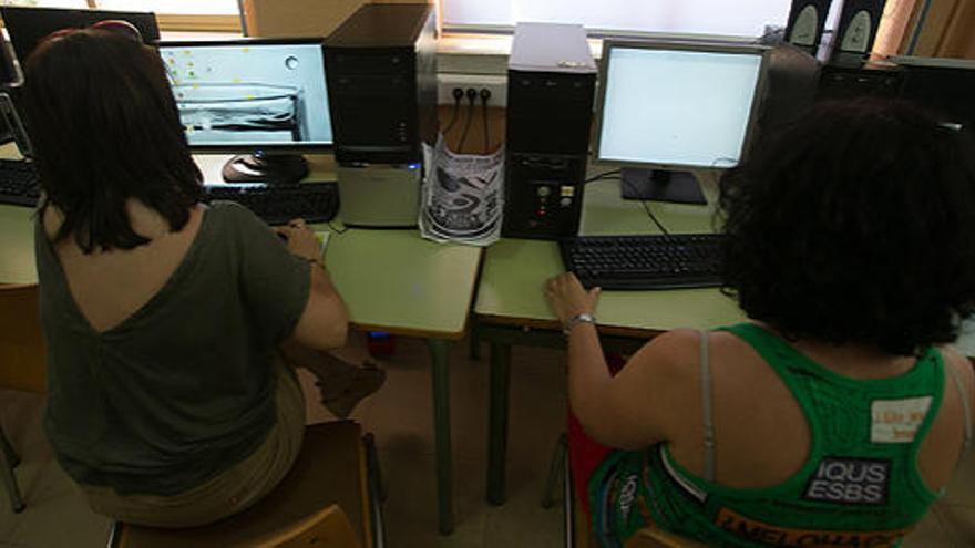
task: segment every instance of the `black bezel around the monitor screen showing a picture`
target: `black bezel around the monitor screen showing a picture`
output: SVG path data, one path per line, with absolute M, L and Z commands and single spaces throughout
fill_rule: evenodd
M 206 39 L 206 40 L 160 40 L 154 44 L 156 50 L 160 48 L 188 48 L 188 46 L 234 46 L 234 45 L 291 45 L 291 44 L 318 44 L 321 46 L 321 64 L 322 76 L 325 77 L 326 101 L 328 101 L 328 68 L 325 61 L 325 38 L 318 37 L 276 37 L 276 38 L 233 38 L 233 39 Z M 162 53 L 160 53 L 162 58 Z M 331 123 L 331 106 L 326 105 L 329 112 L 329 123 Z M 331 143 L 287 143 L 287 144 L 263 144 L 256 146 L 246 146 L 246 144 L 193 144 L 186 139 L 189 149 L 206 154 L 235 154 L 235 153 L 255 153 L 261 154 L 306 154 L 315 152 L 331 152 L 335 149 L 335 127 L 332 127 Z

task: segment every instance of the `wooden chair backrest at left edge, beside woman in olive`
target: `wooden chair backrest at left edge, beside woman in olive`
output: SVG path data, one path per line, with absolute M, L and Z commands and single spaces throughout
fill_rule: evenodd
M 0 285 L 0 387 L 47 391 L 38 286 Z

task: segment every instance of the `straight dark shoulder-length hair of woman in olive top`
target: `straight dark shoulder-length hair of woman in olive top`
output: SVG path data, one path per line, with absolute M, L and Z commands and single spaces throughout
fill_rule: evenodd
M 91 252 L 132 249 L 135 198 L 176 231 L 202 196 L 160 55 L 131 37 L 86 29 L 51 37 L 30 55 L 24 106 L 45 201 L 64 214 L 55 241 Z

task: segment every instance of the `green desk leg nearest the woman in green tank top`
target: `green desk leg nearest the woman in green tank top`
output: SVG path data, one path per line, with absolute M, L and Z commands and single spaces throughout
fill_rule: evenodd
M 491 343 L 491 403 L 488 423 L 488 502 L 504 504 L 507 456 L 507 401 L 511 389 L 511 345 Z

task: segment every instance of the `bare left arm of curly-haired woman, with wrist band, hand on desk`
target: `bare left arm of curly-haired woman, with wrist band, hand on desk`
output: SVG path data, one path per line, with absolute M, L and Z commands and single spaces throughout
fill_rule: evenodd
M 564 273 L 550 280 L 546 294 L 564 325 L 576 314 L 594 314 L 599 290 L 586 291 L 574 275 Z M 694 331 L 663 334 L 613 376 L 596 327 L 574 323 L 568 332 L 568 399 L 586 433 L 623 449 L 667 440 L 684 410 L 699 402 L 699 394 L 689 390 L 699 379 L 694 366 L 698 341 Z

